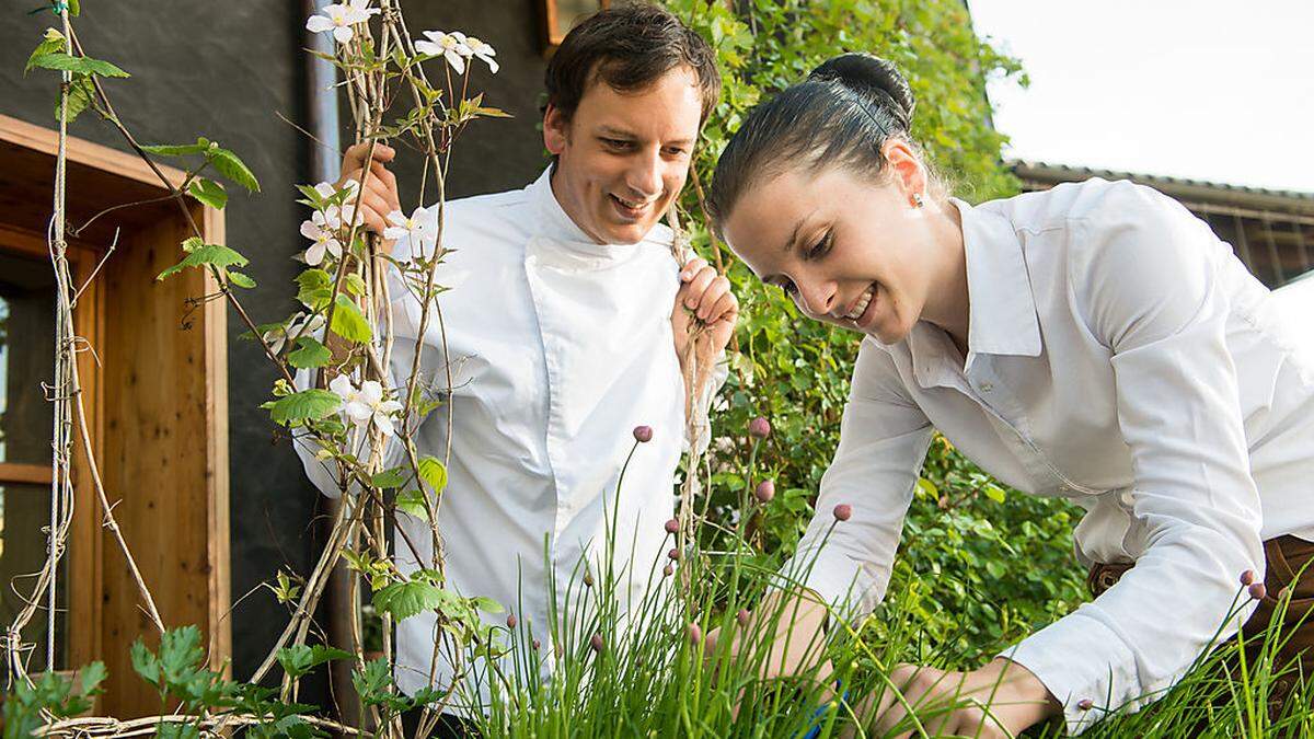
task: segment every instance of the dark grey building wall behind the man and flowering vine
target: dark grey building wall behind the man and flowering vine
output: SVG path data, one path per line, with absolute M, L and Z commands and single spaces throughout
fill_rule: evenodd
M 32 0 L 11 7 L 0 24 L 0 113 L 53 128 L 55 74 L 22 66 L 50 13 L 24 14 Z M 426 29 L 463 30 L 498 50 L 502 70 L 482 63 L 472 82 L 489 88 L 486 104 L 512 120 L 478 121 L 457 141 L 449 196 L 522 187 L 544 166 L 537 131 L 543 87 L 543 32 L 537 0 L 410 0 L 403 4 L 417 37 Z M 227 243 L 251 259 L 260 288 L 244 298 L 256 322 L 296 309 L 290 260 L 304 249 L 304 218 L 293 184 L 309 181 L 309 143 L 279 120 L 305 121 L 305 17 L 301 4 L 176 3 L 84 0 L 75 29 L 85 51 L 133 74 L 109 80 L 108 89 L 126 126 L 143 143 L 180 143 L 205 135 L 237 151 L 260 179 L 263 192 L 233 192 L 226 209 Z M 435 63 L 436 67 L 436 63 Z M 346 107 L 343 107 L 346 110 Z M 344 121 L 347 116 L 344 114 Z M 125 149 L 108 124 L 85 113 L 72 135 Z M 344 126 L 343 146 L 350 142 Z M 419 158 L 399 153 L 396 170 L 407 206 L 418 195 Z M 286 611 L 261 583 L 280 567 L 305 573 L 319 551 L 326 509 L 306 483 L 285 439 L 276 439 L 265 412 L 275 377 L 242 326 L 229 316 L 229 414 L 231 459 L 231 552 L 234 675 L 248 676 L 281 630 Z M 307 685 L 302 700 L 323 702 L 322 685 Z

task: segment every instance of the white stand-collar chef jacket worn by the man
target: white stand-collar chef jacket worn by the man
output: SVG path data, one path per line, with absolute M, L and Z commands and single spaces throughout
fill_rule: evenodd
M 657 225 L 636 245 L 595 243 L 561 209 L 549 172 L 524 189 L 447 203 L 443 245 L 455 251 L 438 272 L 439 284 L 459 283 L 439 298 L 455 388 L 452 456 L 439 513 L 448 586 L 514 611 L 518 630 L 532 631 L 519 636 L 520 655 L 531 639 L 541 642 L 543 679 L 551 675 L 557 640 L 549 631 L 549 598 L 565 606 L 569 586 L 570 602 L 585 600 L 577 565 L 586 559 L 602 583 L 604 510 L 616 518 L 615 571 L 629 584 L 628 600 L 640 604 L 649 577 L 662 580 L 670 546 L 664 523 L 674 514 L 674 473 L 685 447 L 685 384 L 670 323 L 679 288 L 671 231 Z M 405 260 L 410 250 L 399 239 L 394 256 Z M 420 305 L 396 270 L 390 274 L 392 371 L 394 384 L 405 387 Z M 445 389 L 442 346 L 431 316 L 423 380 Z M 724 375 L 721 370 L 719 377 Z M 298 384 L 309 387 L 307 372 Z M 618 500 L 632 430 L 640 425 L 652 426 L 652 441 L 636 450 Z M 443 459 L 447 434 L 447 410 L 431 413 L 415 434 L 419 454 Z M 306 473 L 326 494 L 338 494 L 332 471 L 314 451 L 298 444 Z M 388 467 L 401 463 L 393 443 Z M 423 560 L 417 564 L 398 536 L 401 571 L 431 567 L 428 525 L 405 514 L 398 519 Z M 545 544 L 555 592 L 548 592 Z M 623 601 L 624 590 L 618 589 Z M 505 618 L 485 614 L 489 623 Z M 397 626 L 396 679 L 407 694 L 430 684 L 435 623 L 424 611 Z M 445 655 L 438 663 L 438 689 L 451 682 Z M 522 656 L 520 663 L 528 660 Z M 512 673 L 511 657 L 502 668 Z M 486 665 L 476 668 L 472 682 L 470 696 L 486 702 Z M 456 705 L 448 710 L 464 713 Z

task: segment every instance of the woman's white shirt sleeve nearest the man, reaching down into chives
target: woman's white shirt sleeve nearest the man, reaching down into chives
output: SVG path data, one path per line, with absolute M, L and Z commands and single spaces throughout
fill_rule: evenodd
M 781 569 L 782 584 L 802 584 L 848 617 L 870 613 L 890 584 L 930 437 L 930 421 L 908 397 L 890 354 L 863 342 L 840 446 L 821 477 L 816 514 Z M 841 504 L 851 506 L 848 521 L 834 518 Z

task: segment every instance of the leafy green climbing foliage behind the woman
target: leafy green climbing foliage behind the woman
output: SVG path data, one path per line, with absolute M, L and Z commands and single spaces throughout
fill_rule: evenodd
M 749 108 L 844 51 L 894 60 L 917 97 L 913 137 L 950 191 L 968 201 L 1007 197 L 1018 181 L 1003 166 L 1007 138 L 989 125 L 988 78 L 1026 84 L 1017 60 L 979 39 L 962 0 L 750 0 L 731 8 L 666 0 L 716 49 L 721 103 L 704 130 L 694 187 L 682 200 L 695 246 L 714 254 L 700 189 Z M 778 289 L 762 285 L 721 246 L 716 255 L 740 296 L 740 354 L 715 416 L 719 439 L 714 517 L 731 518 L 746 484 L 744 429 L 754 416 L 774 431 L 757 467 L 777 497 L 752 522 L 762 564 L 791 550 L 812 514 L 821 473 L 838 443 L 840 417 L 859 337 L 808 321 Z M 861 501 L 854 501 L 861 505 Z M 1085 597 L 1072 556 L 1079 512 L 1062 501 L 1007 490 L 959 455 L 932 444 L 909 510 L 891 592 L 928 639 L 936 661 L 975 667 L 996 650 L 1072 609 Z M 879 638 L 884 619 L 871 619 Z M 926 655 L 930 657 L 932 655 Z

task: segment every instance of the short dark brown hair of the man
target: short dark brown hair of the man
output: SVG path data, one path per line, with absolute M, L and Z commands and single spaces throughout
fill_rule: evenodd
M 620 4 L 589 16 L 561 41 L 544 80 L 548 105 L 569 121 L 595 79 L 618 92 L 635 92 L 677 67 L 689 67 L 698 78 L 699 121 L 706 121 L 721 95 L 711 46 L 664 8 Z

